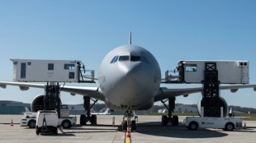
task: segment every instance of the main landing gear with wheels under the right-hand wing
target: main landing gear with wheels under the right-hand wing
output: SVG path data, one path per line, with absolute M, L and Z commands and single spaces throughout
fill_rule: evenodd
M 165 102 L 168 101 L 168 106 L 165 104 Z M 178 126 L 178 116 L 173 116 L 173 110 L 175 108 L 175 97 L 168 98 L 166 100 L 161 100 L 161 102 L 164 104 L 166 108 L 168 108 L 168 115 L 162 116 L 162 125 L 166 126 L 168 122 L 171 122 L 173 126 Z

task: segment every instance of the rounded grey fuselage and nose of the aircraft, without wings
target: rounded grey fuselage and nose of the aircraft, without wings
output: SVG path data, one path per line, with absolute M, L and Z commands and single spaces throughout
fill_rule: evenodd
M 111 63 L 115 56 L 137 56 L 141 61 L 117 60 Z M 117 47 L 107 53 L 98 76 L 107 108 L 114 110 L 151 108 L 161 82 L 159 63 L 154 56 L 145 48 L 132 44 Z

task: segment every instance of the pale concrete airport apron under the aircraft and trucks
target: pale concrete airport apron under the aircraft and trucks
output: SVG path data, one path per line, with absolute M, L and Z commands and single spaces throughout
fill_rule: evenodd
M 58 136 L 37 136 L 36 129 L 20 127 L 22 115 L 0 115 L 0 143 L 30 143 L 30 142 L 72 142 L 72 143 L 123 143 L 126 132 L 116 131 L 112 126 L 112 118 L 115 117 L 115 125 L 120 125 L 122 116 L 97 115 L 97 126 L 78 125 L 64 130 Z M 256 142 L 256 121 L 246 121 L 247 129 L 236 131 L 223 131 L 222 129 L 198 129 L 187 130 L 183 124 L 183 118 L 179 117 L 179 126 L 161 126 L 161 116 L 139 116 L 137 131 L 131 132 L 131 141 L 139 142 Z M 13 120 L 13 127 L 11 121 Z M 244 123 L 243 123 L 244 125 Z

